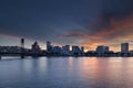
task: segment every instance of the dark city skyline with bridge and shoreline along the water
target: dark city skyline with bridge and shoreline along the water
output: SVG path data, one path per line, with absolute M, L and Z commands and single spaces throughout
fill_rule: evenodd
M 84 51 L 84 46 L 78 45 L 53 45 L 52 42 L 47 41 L 47 50 L 42 50 L 39 43 L 35 41 L 31 48 L 24 47 L 24 38 L 21 38 L 20 46 L 0 46 L 1 55 L 20 55 L 24 56 L 102 56 L 102 57 L 132 57 L 133 51 L 129 50 L 129 43 L 122 43 L 121 51 L 114 52 L 110 50 L 110 46 L 99 45 L 94 51 Z

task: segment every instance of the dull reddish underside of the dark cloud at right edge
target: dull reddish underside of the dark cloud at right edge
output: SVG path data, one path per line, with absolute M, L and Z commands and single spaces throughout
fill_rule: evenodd
M 124 20 L 111 20 L 111 26 L 103 29 L 98 35 L 106 36 L 111 34 L 121 34 L 133 32 L 133 18 L 127 18 Z

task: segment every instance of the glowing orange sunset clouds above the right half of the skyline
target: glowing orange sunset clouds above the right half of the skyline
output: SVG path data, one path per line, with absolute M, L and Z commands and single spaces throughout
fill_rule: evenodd
M 120 51 L 122 42 L 133 41 L 133 16 L 123 20 L 111 19 L 110 26 L 102 28 L 93 34 L 80 31 L 71 32 L 68 36 L 84 38 L 80 45 L 85 46 L 85 50 L 95 50 L 98 45 L 109 45 L 111 51 Z M 115 46 L 112 43 L 116 43 Z

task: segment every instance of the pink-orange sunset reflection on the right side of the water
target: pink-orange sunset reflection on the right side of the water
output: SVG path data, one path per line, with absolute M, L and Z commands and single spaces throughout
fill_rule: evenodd
M 84 58 L 80 72 L 84 81 L 91 82 L 92 87 L 132 88 L 132 64 L 131 58 Z

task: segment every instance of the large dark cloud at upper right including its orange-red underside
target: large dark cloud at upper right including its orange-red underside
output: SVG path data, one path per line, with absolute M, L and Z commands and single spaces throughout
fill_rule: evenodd
M 98 36 L 105 38 L 115 38 L 116 36 L 129 34 L 126 30 L 132 31 L 132 19 L 133 16 L 133 1 L 132 0 L 102 0 L 102 9 L 93 20 L 89 20 L 90 16 L 82 20 L 82 26 L 80 32 L 72 33 L 70 36 Z M 102 38 L 102 40 L 105 40 Z

